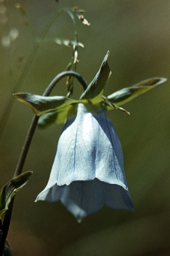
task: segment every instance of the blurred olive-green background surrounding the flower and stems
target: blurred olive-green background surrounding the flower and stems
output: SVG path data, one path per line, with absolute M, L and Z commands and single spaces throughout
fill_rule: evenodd
M 106 96 L 154 76 L 166 77 L 168 81 L 124 105 L 130 116 L 121 111 L 109 112 L 123 148 L 135 213 L 104 206 L 78 224 L 61 202 L 34 203 L 49 179 L 63 126 L 36 130 L 24 166 L 24 171 L 34 173 L 16 196 L 8 234 L 13 256 L 170 255 L 170 1 L 61 0 L 60 3 L 62 7 L 84 9 L 85 18 L 91 23 L 86 27 L 77 19 L 79 41 L 85 45 L 79 49 L 77 71 L 88 83 L 108 50 L 112 76 Z M 5 5 L 8 18 L 6 23 L 1 22 L 1 38 L 11 28 L 19 31 L 19 37 L 10 47 L 0 46 L 2 115 L 33 48 L 34 38 L 21 24 L 22 15 L 15 8 L 16 1 L 0 1 L 0 4 Z M 21 0 L 20 4 L 38 36 L 58 7 L 55 0 Z M 46 38 L 73 40 L 73 33 L 70 17 L 62 14 Z M 24 58 L 19 68 L 17 58 L 21 55 Z M 71 55 L 72 49 L 64 45 L 42 43 L 16 92 L 42 95 L 50 81 L 66 69 Z M 60 82 L 52 95 L 66 94 L 65 81 Z M 74 98 L 81 93 L 78 86 L 75 83 Z M 13 176 L 32 117 L 29 107 L 15 100 L 1 137 L 1 187 Z

